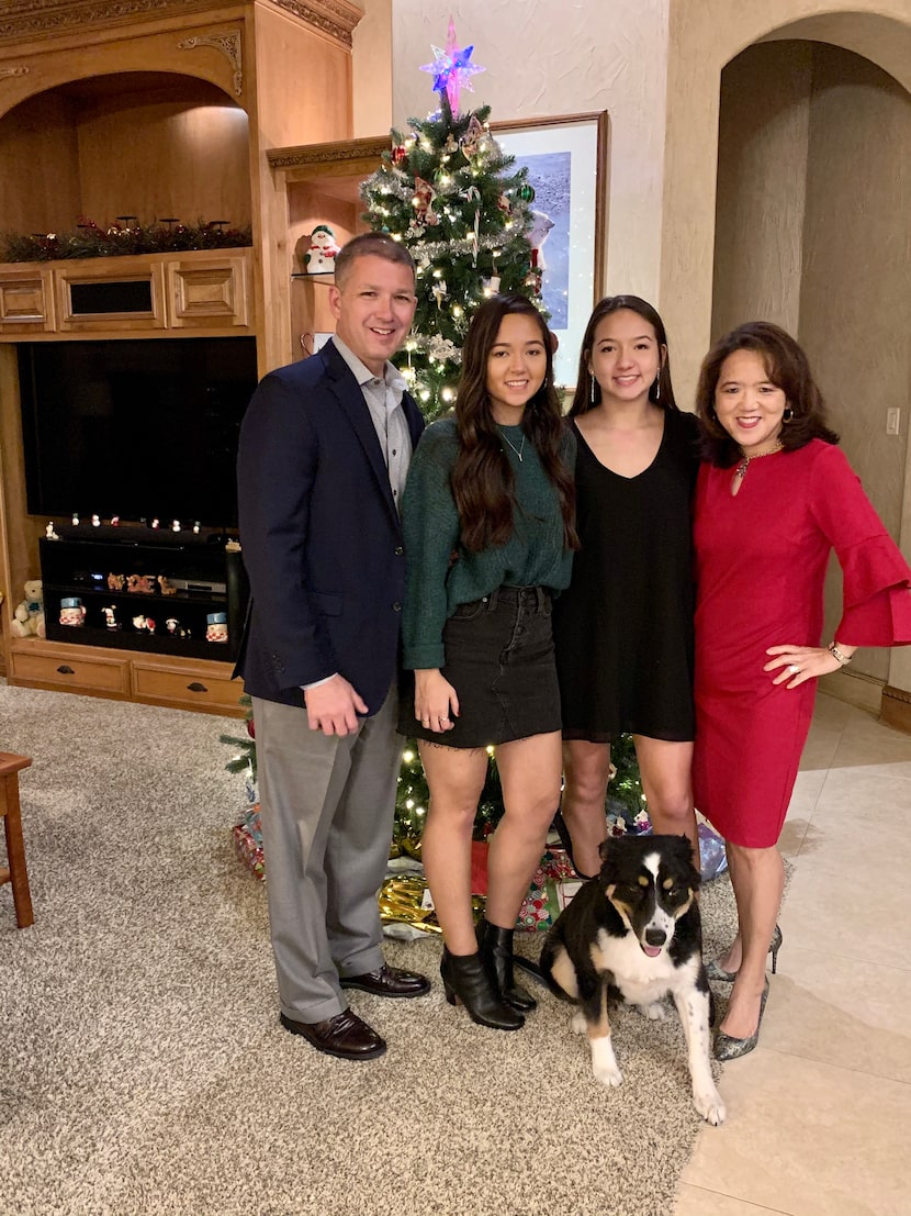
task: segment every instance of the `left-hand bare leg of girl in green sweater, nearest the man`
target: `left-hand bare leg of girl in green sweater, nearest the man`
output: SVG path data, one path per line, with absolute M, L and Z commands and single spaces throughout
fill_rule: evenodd
M 447 748 L 418 742 L 430 788 L 420 854 L 436 918 L 453 955 L 477 950 L 471 914 L 471 832 L 487 776 L 483 748 Z

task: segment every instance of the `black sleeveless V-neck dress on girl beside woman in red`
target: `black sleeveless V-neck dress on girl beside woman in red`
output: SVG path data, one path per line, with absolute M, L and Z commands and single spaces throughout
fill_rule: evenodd
M 655 460 L 632 478 L 605 468 L 570 426 L 582 548 L 554 602 L 564 738 L 690 741 L 696 418 L 667 411 Z

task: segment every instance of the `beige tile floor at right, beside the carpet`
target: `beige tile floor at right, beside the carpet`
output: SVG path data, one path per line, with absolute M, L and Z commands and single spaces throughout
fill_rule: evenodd
M 759 1047 L 725 1065 L 675 1216 L 911 1212 L 911 736 L 820 696 Z

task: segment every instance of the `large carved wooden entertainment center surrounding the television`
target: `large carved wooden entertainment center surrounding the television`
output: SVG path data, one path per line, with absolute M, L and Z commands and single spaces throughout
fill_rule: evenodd
M 89 218 L 102 227 L 115 219 L 126 225 L 168 219 L 253 231 L 251 248 L 0 263 L 0 590 L 6 597 L 0 613 L 10 683 L 242 713 L 243 689 L 231 681 L 228 655 L 206 644 L 197 624 L 185 649 L 160 625 L 155 636 L 120 635 L 123 644 L 97 620 L 73 629 L 73 642 L 58 626 L 49 630 L 53 637 L 12 636 L 24 582 L 41 576 L 40 550 L 56 544 L 44 539 L 49 523 L 61 533 L 67 525 L 68 546 L 67 561 L 62 550 L 53 551 L 53 581 L 45 573 L 52 592 L 45 596 L 49 620 L 56 621 L 61 596 L 79 590 L 74 578 L 97 578 L 112 562 L 117 565 L 118 550 L 107 544 L 126 546 L 119 551 L 121 565 L 128 552 L 142 564 L 132 548 L 136 529 L 115 536 L 103 528 L 102 536 L 85 520 L 74 528 L 66 518 L 29 514 L 17 344 L 248 336 L 255 339 L 260 376 L 304 358 L 309 336 L 332 326 L 327 283 L 299 275 L 295 246 L 321 221 L 333 225 L 339 241 L 361 230 L 357 186 L 387 142 L 350 137 L 351 40 L 361 16 L 349 0 L 13 0 L 5 6 L 5 230 L 72 231 Z M 86 313 L 73 306 L 74 285 L 86 283 L 140 285 L 148 303 L 138 310 Z M 199 458 L 205 460 L 204 451 Z M 132 475 L 142 475 L 141 469 L 137 451 Z M 193 516 L 205 527 L 205 502 Z M 91 559 L 73 557 L 80 539 Z M 158 564 L 192 576 L 196 553 L 206 585 L 223 582 L 233 652 L 243 590 L 236 576 L 239 554 L 225 551 L 230 539 L 217 537 L 214 559 L 211 546 L 194 548 L 187 535 L 180 553 L 166 561 L 163 553 Z M 142 553 L 148 565 L 157 550 L 146 546 Z M 211 591 L 208 607 L 217 608 L 221 596 Z M 142 596 L 135 598 L 137 612 L 147 607 L 138 603 Z M 179 602 L 186 614 L 196 613 L 194 621 L 203 619 L 198 604 L 177 598 L 155 597 L 158 614 L 170 608 L 180 615 L 170 607 Z M 101 603 L 97 595 L 95 603 Z M 209 657 L 211 651 L 216 657 Z

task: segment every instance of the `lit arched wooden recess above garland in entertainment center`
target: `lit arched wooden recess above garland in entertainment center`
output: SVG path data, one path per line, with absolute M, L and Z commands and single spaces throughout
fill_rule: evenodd
M 0 117 L 6 231 L 72 230 L 79 216 L 250 224 L 247 112 L 217 85 L 114 72 L 26 97 Z

